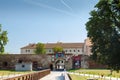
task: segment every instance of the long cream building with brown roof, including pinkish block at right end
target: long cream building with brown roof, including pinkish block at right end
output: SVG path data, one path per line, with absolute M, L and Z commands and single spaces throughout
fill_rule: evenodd
M 53 48 L 56 46 L 61 46 L 65 54 L 73 54 L 73 55 L 91 55 L 90 46 L 91 42 L 87 38 L 84 43 L 46 43 L 45 49 L 46 54 L 53 54 Z M 21 48 L 21 54 L 34 54 L 36 44 L 28 44 Z

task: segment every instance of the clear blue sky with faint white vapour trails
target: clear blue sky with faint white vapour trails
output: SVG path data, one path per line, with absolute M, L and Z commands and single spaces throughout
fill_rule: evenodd
M 5 52 L 29 43 L 84 42 L 89 13 L 98 0 L 0 0 L 0 24 L 8 32 Z

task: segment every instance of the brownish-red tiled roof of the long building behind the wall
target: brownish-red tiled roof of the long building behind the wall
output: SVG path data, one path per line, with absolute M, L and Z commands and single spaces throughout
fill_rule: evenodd
M 82 48 L 84 43 L 47 43 L 45 44 L 46 49 L 54 48 L 56 46 L 61 46 L 63 48 Z M 29 44 L 21 49 L 35 49 L 36 44 Z

